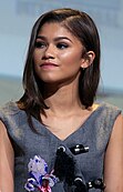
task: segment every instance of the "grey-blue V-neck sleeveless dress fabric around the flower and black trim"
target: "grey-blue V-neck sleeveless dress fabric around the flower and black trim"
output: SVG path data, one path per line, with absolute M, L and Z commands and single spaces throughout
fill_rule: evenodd
M 34 128 L 40 134 L 34 133 L 28 124 L 25 112 L 20 110 L 14 102 L 0 108 L 0 120 L 7 128 L 14 150 L 14 191 L 25 192 L 24 184 L 29 179 L 30 159 L 40 155 L 47 162 L 48 173 L 50 173 L 54 166 L 57 149 L 61 145 L 66 149 L 78 144 L 88 146 L 89 152 L 74 155 L 76 170 L 85 182 L 103 178 L 104 153 L 114 121 L 121 112 L 114 105 L 101 103 L 76 131 L 62 141 L 32 118 Z M 101 192 L 93 188 L 89 191 Z M 52 188 L 52 192 L 65 192 L 64 182 L 58 182 Z

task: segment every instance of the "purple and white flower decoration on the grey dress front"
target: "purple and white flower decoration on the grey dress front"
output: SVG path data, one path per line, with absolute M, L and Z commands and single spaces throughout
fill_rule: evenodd
M 48 173 L 48 164 L 45 161 L 39 156 L 34 155 L 33 159 L 30 159 L 28 164 L 30 179 L 28 179 L 24 189 L 27 191 L 34 191 L 34 189 L 39 189 L 39 191 L 51 191 L 51 188 L 59 181 L 55 175 L 53 175 L 53 171 Z

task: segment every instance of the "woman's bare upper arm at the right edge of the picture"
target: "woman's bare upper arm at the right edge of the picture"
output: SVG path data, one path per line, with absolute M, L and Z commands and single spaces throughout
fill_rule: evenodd
M 120 114 L 105 153 L 104 162 L 105 192 L 123 192 L 123 117 Z

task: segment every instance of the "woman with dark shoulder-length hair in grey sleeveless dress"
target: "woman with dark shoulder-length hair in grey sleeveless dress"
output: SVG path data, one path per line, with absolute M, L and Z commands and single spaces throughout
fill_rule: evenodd
M 99 80 L 93 20 L 72 9 L 42 14 L 30 38 L 24 94 L 0 110 L 1 191 L 123 192 L 123 117 L 94 103 Z

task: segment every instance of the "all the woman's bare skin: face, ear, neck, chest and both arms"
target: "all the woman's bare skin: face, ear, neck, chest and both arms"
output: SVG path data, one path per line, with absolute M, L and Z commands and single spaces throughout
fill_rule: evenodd
M 34 69 L 44 82 L 47 90 L 44 98 L 49 105 L 49 110 L 45 110 L 47 115 L 41 114 L 41 118 L 47 128 L 60 140 L 65 140 L 78 130 L 99 108 L 98 104 L 93 104 L 92 108 L 84 109 L 79 99 L 80 69 L 88 68 L 95 57 L 94 52 L 90 51 L 86 59 L 82 57 L 82 52 L 81 42 L 62 24 L 45 23 L 38 34 L 33 54 Z M 1 162 L 4 162 L 0 164 L 0 172 L 3 175 L 0 190 L 13 192 L 13 149 L 2 122 L 0 131 L 0 158 Z M 8 184 L 6 184 L 7 180 Z M 107 144 L 104 181 L 106 183 L 104 192 L 123 192 L 123 117 L 121 114 L 115 120 Z

